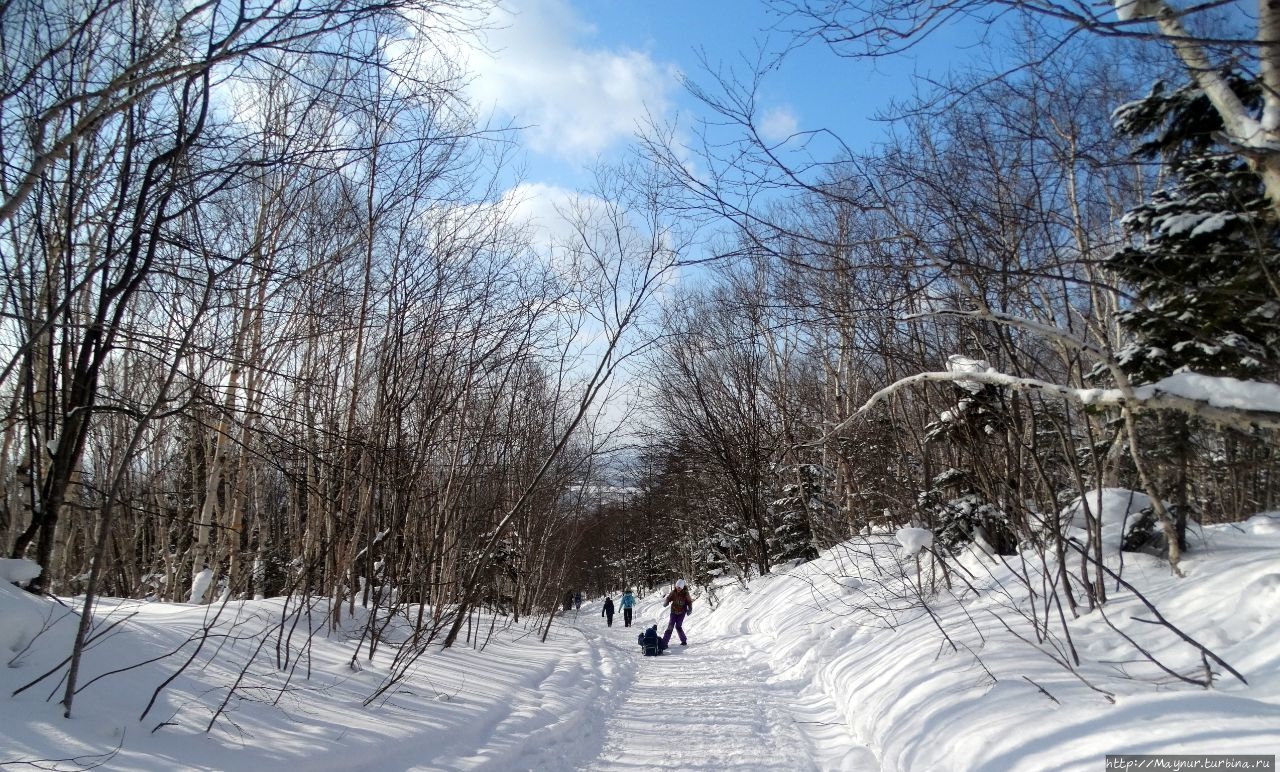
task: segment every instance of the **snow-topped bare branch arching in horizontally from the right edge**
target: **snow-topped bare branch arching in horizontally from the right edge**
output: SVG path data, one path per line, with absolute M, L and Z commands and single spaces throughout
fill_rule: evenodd
M 1225 426 L 1248 430 L 1280 429 L 1280 385 L 1180 373 L 1153 384 L 1135 387 L 1133 397 L 1120 389 L 1078 389 L 1036 378 L 1019 378 L 993 369 L 951 373 L 916 373 L 902 378 L 872 397 L 833 431 L 840 431 L 854 419 L 919 383 L 983 384 L 1020 392 L 1039 392 L 1085 407 L 1129 407 L 1130 410 L 1176 410 Z

